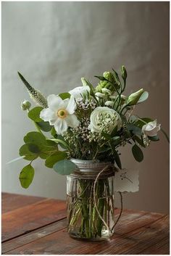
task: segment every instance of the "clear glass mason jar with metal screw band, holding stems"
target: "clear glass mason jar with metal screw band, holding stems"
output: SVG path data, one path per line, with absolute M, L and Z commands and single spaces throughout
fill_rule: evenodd
M 110 162 L 71 161 L 78 168 L 67 176 L 68 233 L 77 239 L 109 239 L 114 233 L 114 169 Z

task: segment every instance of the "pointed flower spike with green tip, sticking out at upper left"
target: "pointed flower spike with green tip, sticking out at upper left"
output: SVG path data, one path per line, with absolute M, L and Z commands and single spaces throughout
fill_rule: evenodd
M 26 88 L 28 89 L 28 93 L 30 95 L 30 98 L 33 99 L 36 104 L 40 105 L 41 107 L 48 107 L 47 99 L 43 94 L 41 94 L 41 91 L 36 90 L 30 84 L 27 80 L 18 72 L 18 75 L 20 76 L 22 82 L 25 84 Z

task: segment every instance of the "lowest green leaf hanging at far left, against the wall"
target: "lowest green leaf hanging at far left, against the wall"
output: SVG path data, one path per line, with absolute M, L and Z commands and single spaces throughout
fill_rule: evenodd
M 22 188 L 28 189 L 30 183 L 33 181 L 34 173 L 34 168 L 31 165 L 26 165 L 24 168 L 22 168 L 19 176 Z

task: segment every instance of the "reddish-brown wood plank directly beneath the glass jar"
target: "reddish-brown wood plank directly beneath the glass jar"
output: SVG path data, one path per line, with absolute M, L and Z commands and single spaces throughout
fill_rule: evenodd
M 130 214 L 128 214 L 130 212 Z M 112 236 L 112 239 L 109 241 L 79 241 L 75 239 L 71 239 L 67 234 L 67 229 L 64 228 L 47 236 L 43 236 L 41 239 L 37 239 L 35 241 L 30 242 L 29 244 L 25 244 L 22 247 L 18 247 L 17 249 L 13 249 L 6 254 L 62 254 L 62 255 L 82 255 L 82 254 L 115 254 L 115 251 L 118 252 L 118 248 L 120 248 L 120 252 L 124 247 L 124 243 L 131 241 L 131 244 L 134 244 L 134 239 L 122 238 L 123 234 L 131 231 L 138 232 L 138 228 L 145 225 L 153 223 L 154 221 L 162 218 L 161 214 L 157 213 L 147 213 L 147 212 L 133 212 L 128 210 L 124 211 L 124 215 L 122 216 L 120 223 L 116 228 L 116 234 Z M 131 218 L 132 212 L 132 218 Z M 135 225 L 134 225 L 135 222 Z M 148 229 L 149 230 L 149 229 Z M 137 242 L 137 241 L 136 241 Z M 64 244 L 64 246 L 62 246 Z M 123 247 L 122 247 L 123 246 Z M 105 252 L 105 249 L 109 248 L 109 252 Z M 143 247 L 144 249 L 144 247 Z

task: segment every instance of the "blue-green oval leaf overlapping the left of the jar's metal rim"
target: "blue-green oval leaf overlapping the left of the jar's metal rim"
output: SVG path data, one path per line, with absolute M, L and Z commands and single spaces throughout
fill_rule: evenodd
M 54 164 L 53 168 L 59 174 L 70 175 L 76 169 L 76 165 L 70 160 L 62 160 Z

